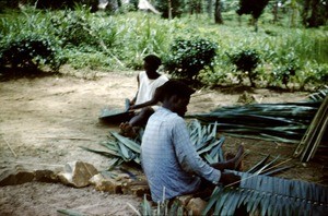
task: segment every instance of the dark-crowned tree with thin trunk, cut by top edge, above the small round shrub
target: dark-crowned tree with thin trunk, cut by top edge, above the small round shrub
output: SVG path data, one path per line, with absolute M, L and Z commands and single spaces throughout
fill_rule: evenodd
M 269 0 L 239 0 L 239 9 L 236 11 L 238 15 L 250 14 L 253 24 L 257 32 L 257 20 L 262 14 L 265 8 L 268 5 Z

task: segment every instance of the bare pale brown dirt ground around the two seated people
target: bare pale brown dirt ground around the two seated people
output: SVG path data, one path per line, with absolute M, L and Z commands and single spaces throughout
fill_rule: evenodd
M 138 72 L 94 72 L 62 76 L 19 79 L 0 83 L 0 170 L 16 165 L 62 166 L 82 160 L 98 170 L 108 168 L 108 158 L 86 152 L 80 146 L 99 148 L 107 140 L 108 127 L 98 121 L 105 106 L 122 109 L 125 98 L 137 91 Z M 198 91 L 188 111 L 207 112 L 218 106 L 235 105 L 241 96 L 236 91 Z M 278 93 L 255 89 L 261 103 L 300 101 L 308 93 Z M 226 137 L 225 151 L 244 144 L 248 155 L 244 166 L 254 166 L 263 156 L 280 155 L 280 161 L 292 158 L 296 145 L 248 139 Z M 317 158 L 302 164 L 292 158 L 294 168 L 280 177 L 300 179 L 327 185 L 327 160 Z M 141 199 L 73 189 L 62 184 L 28 182 L 0 188 L 0 215 L 58 215 L 58 209 L 74 209 L 87 215 L 136 215 Z

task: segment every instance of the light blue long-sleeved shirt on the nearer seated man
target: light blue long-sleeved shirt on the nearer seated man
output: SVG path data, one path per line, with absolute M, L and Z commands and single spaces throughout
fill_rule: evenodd
M 154 202 L 197 191 L 200 177 L 213 183 L 221 177 L 197 154 L 184 119 L 163 107 L 145 127 L 141 163 Z

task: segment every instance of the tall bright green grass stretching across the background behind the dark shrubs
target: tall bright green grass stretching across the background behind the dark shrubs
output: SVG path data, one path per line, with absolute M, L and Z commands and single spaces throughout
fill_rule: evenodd
M 207 14 L 163 20 L 143 12 L 108 15 L 90 13 L 83 8 L 75 11 L 38 11 L 30 7 L 0 14 L 0 45 L 20 35 L 42 35 L 61 44 L 62 55 L 74 68 L 113 71 L 141 69 L 144 55 L 154 52 L 165 58 L 175 38 L 198 36 L 219 46 L 215 73 L 204 72 L 202 75 L 208 84 L 213 85 L 222 82 L 232 71 L 227 53 L 242 48 L 261 53 L 262 68 L 258 70 L 266 71 L 266 75 L 274 67 L 281 67 L 288 53 L 298 60 L 303 75 L 306 74 L 304 70 L 312 67 L 314 71 L 318 67 L 327 68 L 327 31 L 286 28 L 266 21 L 259 24 L 259 31 L 255 33 L 254 27 L 247 24 L 247 17 L 243 16 L 239 25 L 236 14 L 230 12 L 224 15 L 227 17 L 225 24 L 215 25 Z M 56 20 L 57 25 L 54 24 Z M 77 26 L 81 27 L 80 32 Z M 79 37 L 68 43 L 72 36 Z M 80 43 L 77 41 L 79 39 Z

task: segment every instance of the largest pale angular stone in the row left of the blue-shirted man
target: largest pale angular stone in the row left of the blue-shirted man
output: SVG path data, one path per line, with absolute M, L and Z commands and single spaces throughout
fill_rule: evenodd
M 90 179 L 97 175 L 97 169 L 87 163 L 73 161 L 65 166 L 65 170 L 58 173 L 58 178 L 63 184 L 75 188 L 90 185 Z

